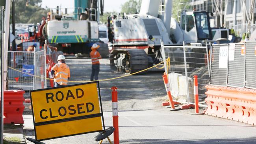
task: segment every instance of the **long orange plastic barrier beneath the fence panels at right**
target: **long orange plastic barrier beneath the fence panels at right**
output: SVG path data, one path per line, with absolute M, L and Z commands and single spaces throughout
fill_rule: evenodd
M 256 90 L 206 86 L 205 114 L 256 125 Z

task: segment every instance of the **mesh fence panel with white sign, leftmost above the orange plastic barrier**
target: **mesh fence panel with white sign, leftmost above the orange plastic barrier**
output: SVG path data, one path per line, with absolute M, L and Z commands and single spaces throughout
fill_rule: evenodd
M 226 86 L 228 44 L 211 46 L 210 85 Z

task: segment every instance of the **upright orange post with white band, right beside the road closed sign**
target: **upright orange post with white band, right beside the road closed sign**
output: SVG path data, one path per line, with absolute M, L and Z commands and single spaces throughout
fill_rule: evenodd
M 114 144 L 119 144 L 119 129 L 118 129 L 118 105 L 117 105 L 117 87 L 112 87 L 112 111 L 113 111 L 113 127 Z

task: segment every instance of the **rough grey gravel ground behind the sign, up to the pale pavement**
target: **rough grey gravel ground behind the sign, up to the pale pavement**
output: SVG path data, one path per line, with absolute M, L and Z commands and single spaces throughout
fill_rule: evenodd
M 90 58 L 69 58 L 70 81 L 89 81 L 91 76 Z M 99 80 L 123 76 L 109 64 L 109 59 L 100 60 Z M 110 81 L 100 81 L 103 111 L 112 111 L 111 87 L 118 88 L 119 111 L 160 109 L 161 102 L 167 100 L 162 79 L 163 70 L 151 69 L 147 74 L 137 74 Z M 76 83 L 69 83 L 69 85 Z M 29 92 L 24 95 L 29 98 Z M 32 114 L 30 103 L 25 103 L 23 114 Z

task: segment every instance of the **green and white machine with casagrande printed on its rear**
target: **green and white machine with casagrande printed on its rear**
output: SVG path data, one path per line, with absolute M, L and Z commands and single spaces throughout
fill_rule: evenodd
M 91 43 L 100 41 L 98 7 L 101 0 L 74 2 L 75 8 L 50 9 L 43 30 L 45 38 L 48 44 L 56 46 L 64 54 L 89 54 Z

